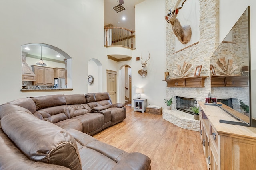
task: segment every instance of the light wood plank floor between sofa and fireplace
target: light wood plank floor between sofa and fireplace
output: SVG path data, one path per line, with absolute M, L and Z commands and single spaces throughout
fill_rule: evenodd
M 177 127 L 162 115 L 126 109 L 124 121 L 93 137 L 126 152 L 147 155 L 152 170 L 207 169 L 199 132 Z

